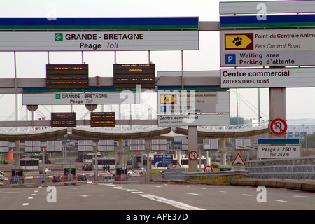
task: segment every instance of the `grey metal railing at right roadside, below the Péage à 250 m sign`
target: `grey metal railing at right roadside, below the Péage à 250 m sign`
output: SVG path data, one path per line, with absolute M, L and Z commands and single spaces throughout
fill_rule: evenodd
M 315 179 L 315 156 L 246 162 L 249 178 Z

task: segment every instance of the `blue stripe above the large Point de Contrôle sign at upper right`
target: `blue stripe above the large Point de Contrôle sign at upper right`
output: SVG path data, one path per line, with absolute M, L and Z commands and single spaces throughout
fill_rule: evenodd
M 256 15 L 221 16 L 221 24 L 243 24 L 243 23 L 275 23 L 275 22 L 315 22 L 315 14 L 308 15 L 267 15 L 267 20 L 257 20 Z

